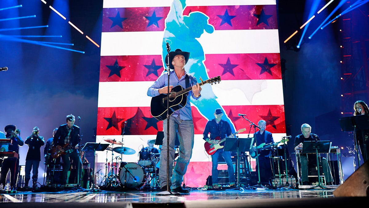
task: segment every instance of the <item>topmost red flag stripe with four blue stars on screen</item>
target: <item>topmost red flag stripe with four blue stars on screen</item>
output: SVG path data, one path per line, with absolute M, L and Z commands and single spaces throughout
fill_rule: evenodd
M 170 7 L 104 8 L 102 31 L 163 31 L 169 10 Z M 206 14 L 215 30 L 277 29 L 275 5 L 189 6 L 183 15 L 188 16 L 194 11 Z

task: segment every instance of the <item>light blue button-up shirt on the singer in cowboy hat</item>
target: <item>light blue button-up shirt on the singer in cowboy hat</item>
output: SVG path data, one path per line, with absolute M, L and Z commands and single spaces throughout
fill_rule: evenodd
M 173 87 L 177 86 L 177 85 L 181 85 L 183 87 L 183 89 L 186 89 L 186 74 L 184 74 L 184 76 L 182 76 L 180 79 L 178 79 L 178 77 L 176 76 L 176 74 L 174 73 L 174 70 L 170 71 L 169 73 L 169 84 L 172 85 Z M 190 86 L 196 85 L 197 84 L 197 80 L 195 77 L 189 75 L 189 82 L 190 82 Z M 150 97 L 155 97 L 159 95 L 159 89 L 162 87 L 168 86 L 168 73 L 164 73 L 162 74 L 155 82 L 154 84 L 152 84 L 149 89 L 147 90 L 147 95 Z M 199 99 L 196 98 L 195 95 L 193 94 L 192 91 L 189 92 L 190 95 L 192 96 L 192 98 L 194 98 L 195 100 Z M 190 96 L 187 96 L 187 103 L 186 105 L 175 111 L 172 116 L 178 117 L 178 115 L 180 115 L 180 118 L 182 120 L 192 120 L 192 114 L 191 114 L 191 106 L 190 106 Z

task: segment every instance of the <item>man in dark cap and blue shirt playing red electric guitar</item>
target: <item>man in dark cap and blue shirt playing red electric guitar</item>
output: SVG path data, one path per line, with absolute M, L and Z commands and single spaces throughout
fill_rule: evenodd
M 232 134 L 230 124 L 222 120 L 223 110 L 221 108 L 217 108 L 214 113 L 215 118 L 208 121 L 206 123 L 204 129 L 204 137 L 203 139 L 206 140 L 209 144 L 217 144 L 219 141 L 218 139 L 224 139 L 225 137 Z M 208 133 L 210 133 L 210 139 L 208 137 Z M 217 139 L 217 140 L 216 140 Z M 224 146 L 224 142 L 220 143 L 221 146 Z M 234 170 L 233 164 L 231 159 L 231 152 L 224 151 L 224 148 L 217 149 L 214 154 L 211 155 L 211 180 L 213 181 L 213 186 L 218 186 L 218 158 L 219 155 L 222 155 L 224 158 L 225 163 L 227 163 L 228 167 L 228 179 L 231 187 L 235 187 L 235 177 L 234 177 Z

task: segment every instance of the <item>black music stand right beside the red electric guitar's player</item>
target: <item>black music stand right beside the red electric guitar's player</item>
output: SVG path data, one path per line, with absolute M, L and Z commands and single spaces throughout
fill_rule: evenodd
M 250 151 L 251 144 L 253 144 L 254 138 L 238 138 L 227 137 L 225 138 L 224 151 L 236 151 L 237 152 L 237 187 L 239 187 L 239 152 Z M 229 173 L 228 173 L 229 174 Z

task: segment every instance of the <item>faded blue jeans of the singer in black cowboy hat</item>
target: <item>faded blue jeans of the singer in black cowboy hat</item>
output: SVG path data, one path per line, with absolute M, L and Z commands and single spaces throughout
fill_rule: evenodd
M 160 187 L 167 185 L 167 120 L 163 121 L 164 139 L 162 150 L 160 152 L 160 169 L 159 169 L 159 183 Z M 179 156 L 173 170 L 174 160 L 174 144 L 176 133 L 179 134 Z M 181 120 L 180 116 L 177 118 L 170 116 L 169 119 L 169 186 L 171 189 L 178 188 L 182 185 L 183 175 L 186 174 L 187 165 L 192 156 L 192 148 L 194 142 L 194 130 L 192 120 Z M 173 173 L 172 173 L 173 170 Z M 171 184 L 170 184 L 171 183 Z

